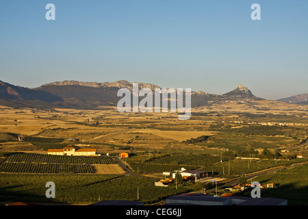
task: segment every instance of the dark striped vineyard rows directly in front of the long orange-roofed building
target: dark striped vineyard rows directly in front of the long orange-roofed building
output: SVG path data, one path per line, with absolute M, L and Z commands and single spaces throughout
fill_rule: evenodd
M 94 173 L 91 164 L 116 164 L 112 157 L 84 157 L 16 153 L 0 164 L 0 172 Z

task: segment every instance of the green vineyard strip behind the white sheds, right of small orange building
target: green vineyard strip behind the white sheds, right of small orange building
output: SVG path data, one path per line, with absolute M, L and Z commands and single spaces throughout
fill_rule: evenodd
M 222 157 L 220 155 L 203 154 L 138 155 L 129 157 L 127 163 L 134 172 L 140 174 L 161 174 L 162 172 L 172 172 L 185 168 L 186 170 L 198 169 L 205 172 L 214 172 L 215 175 L 223 177 L 235 177 L 277 166 L 290 166 L 306 160 L 227 159 L 227 156 L 222 153 Z

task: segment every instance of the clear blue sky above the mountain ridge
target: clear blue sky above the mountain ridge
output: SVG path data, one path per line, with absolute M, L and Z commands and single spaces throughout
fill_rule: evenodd
M 307 0 L 0 1 L 0 80 L 124 79 L 214 94 L 241 83 L 281 99 L 308 93 L 307 27 Z

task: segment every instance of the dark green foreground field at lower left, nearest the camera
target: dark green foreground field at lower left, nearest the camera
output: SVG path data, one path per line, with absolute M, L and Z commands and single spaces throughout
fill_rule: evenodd
M 103 200 L 142 201 L 152 204 L 163 198 L 189 192 L 192 187 L 157 187 L 151 177 L 119 175 L 0 175 L 0 197 L 34 203 L 50 202 L 45 197 L 48 181 L 55 183 L 54 203 L 89 205 Z M 68 186 L 69 185 L 69 186 Z M 139 188 L 139 199 L 138 191 Z M 99 199 L 100 198 L 100 199 Z

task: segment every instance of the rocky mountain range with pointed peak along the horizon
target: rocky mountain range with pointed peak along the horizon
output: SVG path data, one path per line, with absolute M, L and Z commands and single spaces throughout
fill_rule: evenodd
M 9 107 L 34 108 L 74 108 L 95 110 L 100 106 L 116 106 L 122 97 L 117 96 L 119 88 L 132 90 L 133 83 L 125 80 L 115 82 L 55 81 L 38 88 L 23 88 L 0 81 L 0 105 Z M 152 83 L 138 83 L 139 88 L 160 88 Z M 307 96 L 308 97 L 308 96 Z M 208 94 L 192 91 L 192 107 L 200 107 L 220 101 L 259 101 L 264 100 L 252 94 L 251 90 L 239 84 L 226 94 Z M 292 101 L 285 101 L 292 103 Z M 297 101 L 297 99 L 296 99 Z M 298 103 L 303 102 L 299 101 Z M 305 102 L 305 101 L 304 101 Z M 304 103 L 305 104 L 305 103 Z

